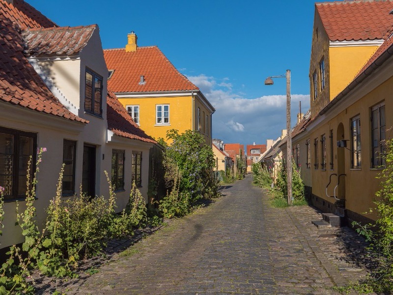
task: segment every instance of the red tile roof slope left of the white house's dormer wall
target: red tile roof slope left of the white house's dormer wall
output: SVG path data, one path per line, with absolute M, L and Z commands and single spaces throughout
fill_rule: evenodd
M 21 2 L 16 1 L 17 4 Z M 12 4 L 0 0 L 0 101 L 88 122 L 72 114 L 58 101 L 23 55 L 24 43 L 17 17 L 20 14 Z M 26 22 L 30 22 L 28 18 Z

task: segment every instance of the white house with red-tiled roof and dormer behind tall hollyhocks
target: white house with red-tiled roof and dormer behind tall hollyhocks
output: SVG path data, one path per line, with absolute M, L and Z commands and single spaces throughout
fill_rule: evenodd
M 15 227 L 16 202 L 23 209 L 28 159 L 46 148 L 36 187 L 37 220 L 56 195 L 64 164 L 62 196 L 82 190 L 109 195 L 126 205 L 132 181 L 147 200 L 147 136 L 107 89 L 108 69 L 99 28 L 58 27 L 23 0 L 0 0 L 0 186 L 4 190 L 1 247 L 22 241 Z M 31 167 L 30 172 L 34 172 Z

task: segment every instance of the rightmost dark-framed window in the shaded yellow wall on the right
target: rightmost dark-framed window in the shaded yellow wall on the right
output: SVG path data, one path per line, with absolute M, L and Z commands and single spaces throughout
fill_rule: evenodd
M 385 103 L 371 109 L 371 164 L 373 168 L 385 165 Z

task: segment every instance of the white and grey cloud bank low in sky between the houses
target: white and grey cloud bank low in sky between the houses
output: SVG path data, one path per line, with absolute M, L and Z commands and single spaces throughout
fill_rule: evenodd
M 229 79 L 217 83 L 214 77 L 199 75 L 188 77 L 216 109 L 213 114 L 213 137 L 226 143 L 266 144 L 267 139 L 277 139 L 286 128 L 286 96 L 264 95 L 245 98 L 244 93 L 234 93 Z M 230 85 L 230 87 L 228 87 Z M 302 102 L 302 113 L 309 109 L 309 95 L 291 95 L 292 126 L 296 123 Z

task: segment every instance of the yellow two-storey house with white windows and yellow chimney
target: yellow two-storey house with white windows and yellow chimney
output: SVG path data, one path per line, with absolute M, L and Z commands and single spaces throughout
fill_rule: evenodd
M 211 146 L 214 107 L 157 46 L 138 47 L 137 40 L 131 32 L 125 48 L 104 50 L 108 86 L 150 136 L 166 139 L 170 129 L 191 129 Z

